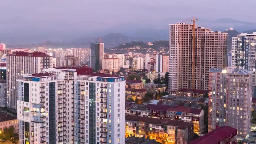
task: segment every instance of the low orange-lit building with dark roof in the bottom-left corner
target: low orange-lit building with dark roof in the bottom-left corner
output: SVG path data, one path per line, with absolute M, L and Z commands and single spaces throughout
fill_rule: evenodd
M 19 132 L 19 121 L 16 117 L 0 113 L 0 131 L 3 132 L 4 128 L 14 127 L 14 132 Z

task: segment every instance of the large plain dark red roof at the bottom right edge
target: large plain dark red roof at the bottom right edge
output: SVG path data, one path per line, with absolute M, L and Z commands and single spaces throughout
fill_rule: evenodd
M 234 137 L 237 134 L 237 130 L 230 126 L 223 126 L 216 128 L 213 131 L 203 135 L 190 142 L 189 144 L 218 144 L 223 139 Z

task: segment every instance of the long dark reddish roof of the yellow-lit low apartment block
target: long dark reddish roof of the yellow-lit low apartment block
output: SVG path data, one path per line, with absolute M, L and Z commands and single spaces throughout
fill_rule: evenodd
M 148 123 L 154 124 L 166 124 L 166 125 L 173 125 L 178 126 L 180 129 L 185 129 L 189 126 L 193 126 L 193 123 L 184 122 L 184 121 L 174 121 L 169 119 L 159 119 L 159 118 L 147 118 L 147 117 L 140 117 L 135 115 L 125 115 L 126 121 L 143 121 Z

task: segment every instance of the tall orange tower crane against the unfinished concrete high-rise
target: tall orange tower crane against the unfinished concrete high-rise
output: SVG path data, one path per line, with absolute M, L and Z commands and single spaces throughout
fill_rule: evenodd
M 193 28 L 192 28 L 192 83 L 191 83 L 191 89 L 195 89 L 195 55 L 196 55 L 196 36 L 195 36 L 195 29 L 196 29 L 196 21 L 198 19 L 195 19 L 195 16 L 193 17 L 193 20 L 186 20 L 183 22 L 193 22 Z

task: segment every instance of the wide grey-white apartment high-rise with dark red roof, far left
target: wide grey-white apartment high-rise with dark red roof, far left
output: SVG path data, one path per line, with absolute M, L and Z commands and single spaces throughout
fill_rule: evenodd
M 44 68 L 52 67 L 52 57 L 43 52 L 13 52 L 7 57 L 7 105 L 16 108 L 17 83 L 25 74 L 43 72 Z

